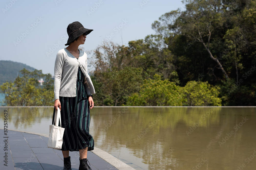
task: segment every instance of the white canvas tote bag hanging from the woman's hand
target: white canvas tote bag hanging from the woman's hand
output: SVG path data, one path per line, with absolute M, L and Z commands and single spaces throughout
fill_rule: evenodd
M 60 126 L 58 126 L 59 120 Z M 55 110 L 54 122 L 52 125 L 50 125 L 50 134 L 47 145 L 48 148 L 61 149 L 64 130 L 65 128 L 61 127 L 60 109 L 58 108 L 58 110 Z

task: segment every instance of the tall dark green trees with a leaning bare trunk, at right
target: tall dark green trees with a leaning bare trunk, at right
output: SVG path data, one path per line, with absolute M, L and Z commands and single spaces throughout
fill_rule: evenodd
M 255 105 L 256 1 L 184 3 L 185 10 L 167 12 L 152 24 L 172 52 L 180 85 L 203 75 L 201 81 L 221 87 L 222 105 Z

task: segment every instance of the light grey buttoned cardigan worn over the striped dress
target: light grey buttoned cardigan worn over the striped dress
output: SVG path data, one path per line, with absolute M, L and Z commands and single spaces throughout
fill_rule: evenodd
M 54 66 L 54 100 L 76 96 L 77 71 L 80 66 L 84 74 L 84 85 L 87 95 L 95 94 L 91 78 L 87 72 L 87 54 L 79 50 L 79 58 L 75 58 L 66 48 L 58 51 Z

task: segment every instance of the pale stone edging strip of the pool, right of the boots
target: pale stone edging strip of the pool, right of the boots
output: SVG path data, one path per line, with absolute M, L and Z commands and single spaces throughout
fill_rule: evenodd
M 94 150 L 92 150 L 91 152 L 93 152 L 95 155 L 99 156 L 100 158 L 102 158 L 103 160 L 105 160 L 106 162 L 113 165 L 114 167 L 116 167 L 119 170 L 134 169 L 133 167 L 127 165 L 126 163 L 124 163 L 124 162 L 120 161 L 119 159 L 115 158 L 114 156 L 112 156 L 108 152 L 105 152 L 105 151 L 103 151 L 99 148 L 94 147 Z

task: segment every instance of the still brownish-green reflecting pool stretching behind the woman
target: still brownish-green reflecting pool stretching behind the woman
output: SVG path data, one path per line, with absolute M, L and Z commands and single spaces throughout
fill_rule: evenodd
M 2 122 L 4 109 L 8 129 L 49 133 L 53 107 L 0 108 Z M 254 170 L 255 111 L 255 107 L 95 107 L 90 134 L 95 147 L 141 169 Z

